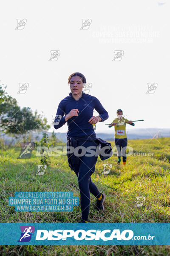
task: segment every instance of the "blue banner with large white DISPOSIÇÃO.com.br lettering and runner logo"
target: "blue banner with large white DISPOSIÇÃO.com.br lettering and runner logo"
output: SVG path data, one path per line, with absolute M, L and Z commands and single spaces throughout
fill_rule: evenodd
M 170 223 L 0 223 L 0 244 L 170 244 Z

